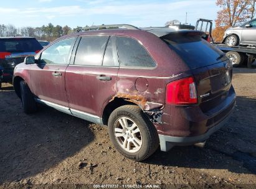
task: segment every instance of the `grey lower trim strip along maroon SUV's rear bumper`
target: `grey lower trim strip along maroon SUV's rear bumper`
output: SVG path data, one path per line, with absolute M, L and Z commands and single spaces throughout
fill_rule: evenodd
M 167 152 L 169 149 L 175 145 L 192 145 L 198 142 L 206 141 L 214 132 L 218 131 L 224 124 L 229 120 L 231 114 L 227 116 L 224 120 L 220 121 L 216 126 L 211 127 L 206 133 L 193 136 L 193 137 L 173 137 L 173 136 L 164 136 L 159 134 L 159 141 L 161 151 Z

